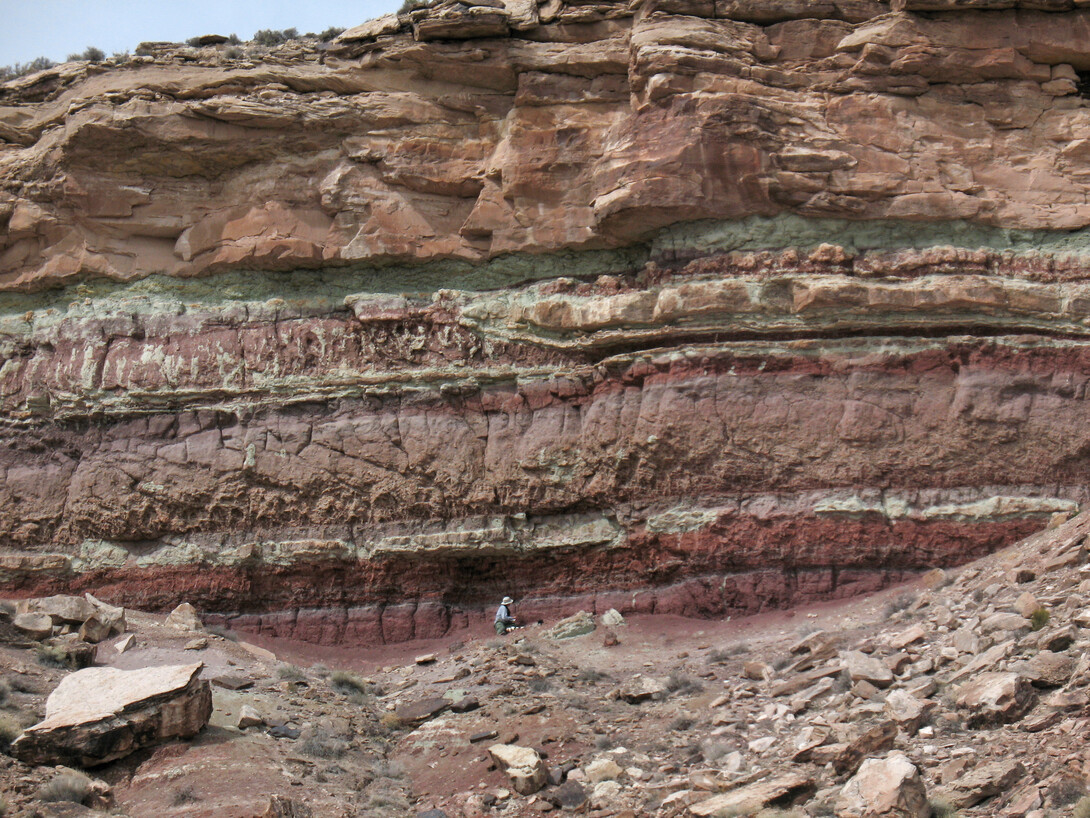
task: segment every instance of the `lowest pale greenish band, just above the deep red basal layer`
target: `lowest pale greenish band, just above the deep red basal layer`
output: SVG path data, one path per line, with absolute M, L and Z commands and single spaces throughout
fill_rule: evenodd
M 235 568 L 263 564 L 290 567 L 328 562 L 412 558 L 497 557 L 543 550 L 615 549 L 626 544 L 626 532 L 644 526 L 655 534 L 701 531 L 720 520 L 754 518 L 774 521 L 818 516 L 860 519 L 877 515 L 889 522 L 1004 522 L 1078 512 L 1090 500 L 1085 486 L 969 486 L 891 491 L 809 491 L 762 493 L 734 497 L 697 497 L 643 517 L 619 520 L 616 514 L 528 517 L 501 515 L 423 524 L 413 530 L 398 527 L 328 531 L 326 536 L 280 531 L 271 534 L 201 534 L 167 537 L 154 542 L 85 540 L 73 554 L 8 553 L 0 556 L 0 581 L 38 569 L 60 574 L 97 570 L 162 568 L 201 565 Z

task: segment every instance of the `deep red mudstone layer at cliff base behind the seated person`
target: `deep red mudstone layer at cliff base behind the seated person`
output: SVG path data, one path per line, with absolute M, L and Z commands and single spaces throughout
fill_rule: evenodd
M 619 548 L 370 562 L 181 565 L 27 575 L 20 597 L 93 591 L 166 611 L 185 600 L 232 627 L 320 643 L 433 638 L 491 615 L 510 593 L 524 621 L 579 610 L 716 617 L 879 590 L 990 553 L 1041 528 L 1002 522 L 727 517 L 681 534 L 630 531 Z

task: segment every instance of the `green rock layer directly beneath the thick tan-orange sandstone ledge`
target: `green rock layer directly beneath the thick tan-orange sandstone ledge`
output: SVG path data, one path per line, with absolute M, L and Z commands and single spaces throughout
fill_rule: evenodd
M 344 265 L 288 273 L 233 270 L 204 278 L 181 279 L 149 270 L 140 280 L 90 280 L 60 290 L 0 292 L 0 333 L 7 321 L 31 311 L 66 312 L 87 299 L 96 302 L 142 297 L 180 306 L 263 303 L 282 299 L 282 309 L 328 310 L 359 292 L 425 294 L 450 288 L 485 291 L 561 276 L 586 278 L 623 273 L 647 261 L 673 254 L 727 251 L 760 252 L 797 248 L 809 251 L 834 243 L 848 252 L 952 246 L 1015 254 L 1090 258 L 1090 228 L 1081 230 L 1016 230 L 968 221 L 850 221 L 795 215 L 751 216 L 736 221 L 694 221 L 661 230 L 647 243 L 622 250 L 569 251 L 543 255 L 512 254 L 480 265 L 439 261 L 414 266 Z

